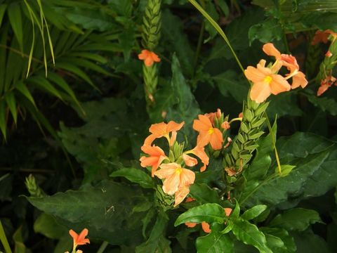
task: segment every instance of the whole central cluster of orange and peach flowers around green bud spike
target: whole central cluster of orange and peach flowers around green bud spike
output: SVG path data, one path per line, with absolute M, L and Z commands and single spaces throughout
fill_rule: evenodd
M 209 156 L 205 151 L 205 146 L 209 145 L 213 150 L 223 148 L 223 134 L 230 128 L 227 117 L 224 119 L 223 113 L 218 109 L 205 115 L 199 115 L 195 119 L 193 129 L 199 132 L 197 145 L 190 150 L 184 151 L 184 144 L 176 141 L 177 132 L 183 127 L 185 122 L 158 123 L 150 126 L 150 135 L 145 138 L 141 150 L 145 155 L 140 157 L 142 167 L 151 167 L 152 177 L 157 176 L 163 180 L 162 189 L 168 195 L 174 195 L 174 206 L 179 205 L 190 193 L 190 185 L 194 183 L 195 173 L 187 167 L 194 167 L 198 164 L 197 158 L 202 165 L 200 171 L 205 171 L 209 165 Z M 220 130 L 222 129 L 222 130 Z M 169 155 L 159 146 L 154 145 L 157 138 L 165 138 L 169 145 Z M 228 144 L 228 143 L 227 143 Z M 227 145 L 225 145 L 227 148 Z

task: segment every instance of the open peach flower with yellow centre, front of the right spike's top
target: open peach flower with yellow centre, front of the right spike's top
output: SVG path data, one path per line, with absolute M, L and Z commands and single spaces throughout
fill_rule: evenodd
M 279 74 L 273 74 L 272 70 L 265 67 L 265 60 L 260 60 L 256 67 L 247 67 L 244 70 L 247 79 L 253 82 L 251 87 L 251 100 L 256 103 L 262 103 L 270 96 L 270 94 L 277 95 L 278 93 L 289 91 L 290 84 L 286 79 Z

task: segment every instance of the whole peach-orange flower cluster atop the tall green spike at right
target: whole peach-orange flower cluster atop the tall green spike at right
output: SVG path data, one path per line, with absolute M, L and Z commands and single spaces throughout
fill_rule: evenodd
M 266 61 L 260 60 L 257 67 L 249 66 L 244 70 L 246 78 L 253 82 L 250 91 L 251 100 L 256 103 L 262 103 L 270 94 L 277 95 L 284 91 L 290 91 L 290 89 L 296 89 L 299 86 L 304 88 L 308 84 L 305 74 L 299 71 L 300 67 L 295 57 L 280 53 L 272 43 L 265 44 L 263 51 L 267 56 L 274 56 L 275 63 L 266 67 Z M 289 70 L 285 77 L 278 74 L 283 66 Z M 292 78 L 291 84 L 288 82 L 290 78 Z

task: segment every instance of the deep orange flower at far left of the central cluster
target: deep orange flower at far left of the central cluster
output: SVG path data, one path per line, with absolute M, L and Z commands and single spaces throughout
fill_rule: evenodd
M 150 155 L 150 157 L 140 157 L 140 166 L 152 166 L 151 174 L 153 177 L 154 172 L 157 170 L 161 162 L 163 162 L 167 157 L 164 151 L 156 145 L 143 145 L 141 149 L 145 154 Z

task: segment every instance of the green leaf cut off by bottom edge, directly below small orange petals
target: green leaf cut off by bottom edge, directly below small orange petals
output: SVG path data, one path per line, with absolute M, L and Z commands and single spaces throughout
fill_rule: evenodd
M 206 236 L 197 238 L 198 253 L 218 253 L 218 252 L 233 252 L 233 241 L 228 235 L 211 231 Z

